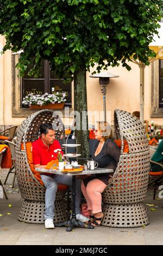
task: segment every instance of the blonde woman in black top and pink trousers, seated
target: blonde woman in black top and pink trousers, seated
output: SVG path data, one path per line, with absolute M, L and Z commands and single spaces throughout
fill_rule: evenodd
M 98 163 L 98 167 L 106 167 L 115 171 L 121 150 L 110 137 L 110 125 L 106 122 L 97 122 L 95 138 L 98 139 L 98 142 L 92 159 Z M 87 202 L 87 208 L 91 210 L 90 222 L 94 226 L 101 225 L 104 217 L 102 212 L 102 192 L 108 185 L 111 175 L 109 173 L 92 174 L 82 181 L 82 192 Z

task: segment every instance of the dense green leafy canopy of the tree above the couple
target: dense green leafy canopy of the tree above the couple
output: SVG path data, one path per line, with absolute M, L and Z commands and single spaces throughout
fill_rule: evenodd
M 39 72 L 41 59 L 71 77 L 80 69 L 97 70 L 126 63 L 131 56 L 148 65 L 149 42 L 157 33 L 162 0 L 0 0 L 4 51 L 23 49 L 20 75 Z

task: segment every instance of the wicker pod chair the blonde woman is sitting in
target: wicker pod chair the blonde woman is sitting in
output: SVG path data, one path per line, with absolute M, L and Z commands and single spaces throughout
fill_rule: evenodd
M 116 139 L 122 148 L 118 166 L 102 194 L 107 227 L 141 227 L 149 223 L 143 204 L 149 181 L 149 147 L 145 129 L 132 114 L 116 109 L 114 113 Z M 129 153 L 123 153 L 123 139 Z

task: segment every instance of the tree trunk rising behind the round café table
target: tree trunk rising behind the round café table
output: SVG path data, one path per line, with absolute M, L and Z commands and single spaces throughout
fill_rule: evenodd
M 86 70 L 80 70 L 74 74 L 74 125 L 77 142 L 81 144 L 78 148 L 81 158 L 89 157 L 89 132 L 87 120 L 87 95 L 86 95 Z M 81 164 L 82 162 L 80 162 Z M 84 163 L 84 161 L 83 161 Z

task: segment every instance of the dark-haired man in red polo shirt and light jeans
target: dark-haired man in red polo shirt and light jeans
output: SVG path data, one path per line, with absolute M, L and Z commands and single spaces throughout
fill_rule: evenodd
M 61 149 L 59 142 L 55 139 L 55 131 L 53 130 L 52 124 L 42 124 L 40 126 L 41 136 L 35 142 L 32 143 L 33 146 L 33 163 L 34 168 L 45 167 L 48 162 L 57 159 L 57 153 L 54 152 L 55 149 Z M 61 151 L 62 152 L 62 151 Z M 72 186 L 72 176 L 58 175 L 51 173 L 41 174 L 41 179 L 44 186 L 46 187 L 45 192 L 45 228 L 54 228 L 53 218 L 54 218 L 54 202 L 55 195 L 57 192 L 58 184 L 64 184 L 67 186 Z M 80 214 L 80 179 L 76 181 L 76 218 L 82 222 L 89 221 Z

